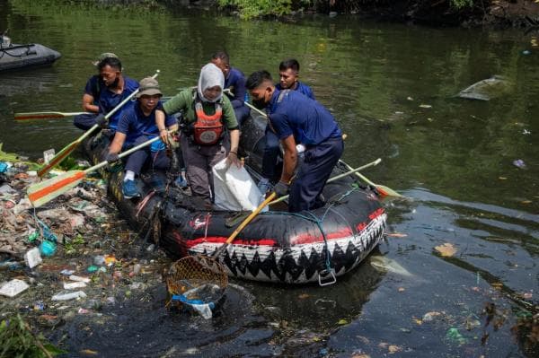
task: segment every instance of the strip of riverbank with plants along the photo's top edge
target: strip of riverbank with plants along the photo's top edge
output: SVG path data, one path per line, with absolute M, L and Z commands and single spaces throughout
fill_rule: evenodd
M 483 26 L 539 29 L 537 0 L 54 0 L 118 11 L 203 9 L 254 18 L 293 19 L 310 14 L 356 14 L 386 22 L 429 26 Z

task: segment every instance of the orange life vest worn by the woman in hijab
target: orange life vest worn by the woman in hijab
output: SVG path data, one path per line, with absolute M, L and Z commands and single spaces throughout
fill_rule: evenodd
M 225 131 L 223 126 L 223 107 L 221 103 L 216 103 L 216 113 L 208 116 L 202 109 L 202 102 L 195 103 L 195 116 L 197 120 L 193 124 L 193 139 L 199 145 L 217 144 Z

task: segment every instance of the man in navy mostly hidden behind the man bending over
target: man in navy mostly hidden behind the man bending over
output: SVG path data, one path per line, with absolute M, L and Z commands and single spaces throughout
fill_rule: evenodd
M 298 81 L 299 63 L 295 58 L 288 58 L 278 65 L 279 82 L 275 87 L 280 90 L 294 90 L 305 94 L 314 100 L 314 93 L 311 87 Z M 262 179 L 259 188 L 262 192 L 271 189 L 270 181 L 275 179 L 278 154 L 278 137 L 270 129 L 266 128 L 264 154 L 262 156 Z

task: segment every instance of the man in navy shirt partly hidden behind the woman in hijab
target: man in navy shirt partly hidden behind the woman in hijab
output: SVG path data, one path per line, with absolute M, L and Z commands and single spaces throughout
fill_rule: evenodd
M 245 106 L 246 94 L 245 75 L 242 71 L 230 66 L 230 57 L 225 51 L 217 51 L 211 57 L 211 63 L 219 67 L 225 75 L 225 90 L 234 93 L 229 95 L 230 102 L 234 107 L 234 114 L 238 125 L 242 127 L 243 121 L 249 117 L 250 110 Z

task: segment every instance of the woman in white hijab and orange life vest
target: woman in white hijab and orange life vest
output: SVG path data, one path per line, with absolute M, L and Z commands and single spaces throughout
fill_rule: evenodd
M 196 90 L 184 90 L 163 104 L 168 115 L 182 111 L 181 152 L 193 196 L 211 205 L 211 169 L 227 159 L 237 166 L 240 132 L 230 100 L 223 96 L 225 77 L 214 64 L 202 67 Z M 166 140 L 164 125 L 157 123 Z M 230 144 L 230 145 L 228 145 Z M 228 150 L 228 147 L 230 149 Z

